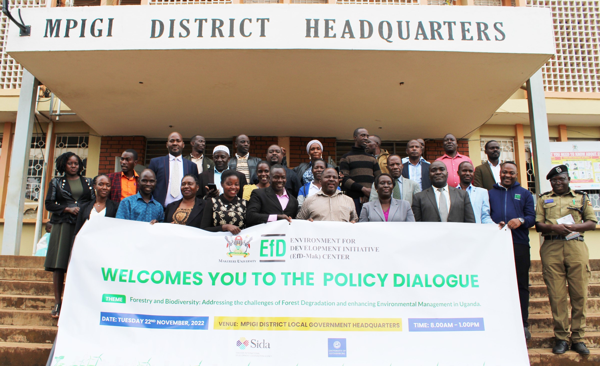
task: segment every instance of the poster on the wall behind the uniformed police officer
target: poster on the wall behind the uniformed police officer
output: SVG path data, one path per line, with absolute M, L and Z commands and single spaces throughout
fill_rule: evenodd
M 600 141 L 550 143 L 550 156 L 569 168 L 572 189 L 600 189 Z

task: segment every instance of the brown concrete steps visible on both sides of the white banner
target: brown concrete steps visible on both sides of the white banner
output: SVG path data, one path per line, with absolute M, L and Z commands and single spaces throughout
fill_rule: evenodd
M 600 365 L 600 259 L 590 261 L 592 279 L 587 301 L 586 344 L 591 354 L 573 351 L 554 355 L 553 320 L 540 261 L 532 261 L 527 342 L 532 366 Z M 0 365 L 46 365 L 58 320 L 50 317 L 54 305 L 52 274 L 43 270 L 43 257 L 0 256 Z

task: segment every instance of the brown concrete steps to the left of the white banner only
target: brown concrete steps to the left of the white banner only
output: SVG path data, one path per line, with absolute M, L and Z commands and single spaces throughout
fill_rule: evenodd
M 0 365 L 46 365 L 56 336 L 44 257 L 0 256 Z

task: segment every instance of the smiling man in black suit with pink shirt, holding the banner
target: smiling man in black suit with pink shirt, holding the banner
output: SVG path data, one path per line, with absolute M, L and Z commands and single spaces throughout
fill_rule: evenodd
M 259 223 L 288 220 L 298 213 L 298 199 L 286 190 L 286 168 L 283 165 L 271 166 L 271 186 L 254 189 L 246 209 L 248 226 Z

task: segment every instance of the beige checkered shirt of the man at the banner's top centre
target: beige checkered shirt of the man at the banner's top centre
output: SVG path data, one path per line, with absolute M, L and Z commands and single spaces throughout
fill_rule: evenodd
M 355 220 L 358 222 L 352 198 L 344 195 L 340 190 L 336 190 L 330 197 L 320 189 L 319 192 L 304 200 L 296 219 L 344 222 Z

